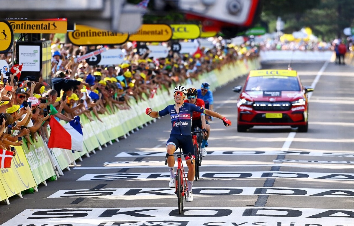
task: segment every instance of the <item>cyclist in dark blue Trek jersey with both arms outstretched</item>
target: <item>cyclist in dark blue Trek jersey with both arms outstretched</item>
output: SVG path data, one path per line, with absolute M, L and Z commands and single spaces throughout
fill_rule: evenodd
M 172 130 L 169 140 L 166 143 L 167 153 L 173 154 L 176 149 L 181 146 L 183 154 L 185 156 L 185 162 L 188 166 L 188 191 L 187 191 L 187 202 L 193 201 L 192 186 L 195 176 L 194 166 L 192 165 L 188 153 L 194 156 L 194 148 L 192 142 L 192 117 L 193 112 L 200 112 L 204 114 L 211 115 L 213 117 L 223 120 L 225 126 L 230 126 L 231 121 L 223 117 L 217 112 L 213 112 L 203 107 L 197 107 L 194 104 L 184 103 L 184 97 L 187 93 L 187 89 L 184 86 L 176 86 L 173 91 L 173 98 L 175 99 L 175 104 L 167 106 L 165 109 L 157 112 L 153 111 L 151 108 L 147 108 L 145 113 L 150 115 L 152 118 L 158 118 L 167 114 L 171 115 Z M 170 156 L 167 159 L 167 164 L 169 165 L 171 180 L 169 186 L 171 188 L 176 186 L 175 179 L 175 158 Z

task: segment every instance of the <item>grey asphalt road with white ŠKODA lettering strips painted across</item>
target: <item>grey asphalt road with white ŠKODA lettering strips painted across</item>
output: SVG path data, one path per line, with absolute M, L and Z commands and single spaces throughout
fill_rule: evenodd
M 263 64 L 267 68 L 287 63 Z M 182 215 L 163 163 L 171 129 L 166 116 L 84 157 L 39 192 L 1 204 L 0 224 L 354 226 L 353 68 L 325 62 L 292 68 L 303 85 L 315 87 L 308 132 L 288 126 L 237 132 L 232 87 L 245 77 L 219 88 L 215 111 L 234 124 L 210 123 L 202 179 L 194 182 L 194 200 L 184 203 Z

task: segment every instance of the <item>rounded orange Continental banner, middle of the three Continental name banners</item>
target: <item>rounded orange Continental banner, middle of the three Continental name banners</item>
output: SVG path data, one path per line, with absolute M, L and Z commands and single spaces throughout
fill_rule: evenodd
M 68 32 L 68 37 L 74 45 L 119 45 L 128 40 L 129 34 L 76 24 L 75 31 Z

